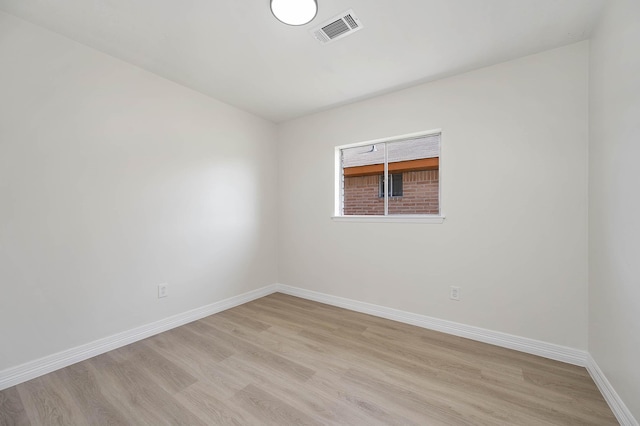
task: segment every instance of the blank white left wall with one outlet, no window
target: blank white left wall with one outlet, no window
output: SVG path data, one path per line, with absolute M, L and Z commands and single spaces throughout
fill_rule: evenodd
M 275 136 L 0 13 L 0 370 L 276 282 Z

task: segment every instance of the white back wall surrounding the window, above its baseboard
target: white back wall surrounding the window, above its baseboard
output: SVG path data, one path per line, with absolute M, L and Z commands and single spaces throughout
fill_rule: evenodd
M 582 42 L 281 125 L 280 282 L 586 349 L 587 68 Z M 444 224 L 330 219 L 334 146 L 436 128 Z

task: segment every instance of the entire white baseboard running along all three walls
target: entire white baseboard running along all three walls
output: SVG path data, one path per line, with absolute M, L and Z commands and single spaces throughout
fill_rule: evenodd
M 613 389 L 602 370 L 600 370 L 596 362 L 586 351 L 283 284 L 273 284 L 262 287 L 248 293 L 230 297 L 182 314 L 174 315 L 85 345 L 2 370 L 0 371 L 0 390 L 275 292 L 281 292 L 356 312 L 586 367 L 620 424 L 624 426 L 640 426 Z

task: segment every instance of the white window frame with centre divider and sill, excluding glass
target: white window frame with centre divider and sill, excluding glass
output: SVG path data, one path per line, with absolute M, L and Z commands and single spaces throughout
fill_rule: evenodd
M 412 214 L 412 215 L 348 215 L 345 216 L 341 213 L 342 209 L 342 157 L 341 151 L 345 148 L 354 148 L 365 145 L 375 145 L 379 143 L 398 142 L 404 139 L 412 139 L 421 136 L 429 136 L 434 134 L 440 134 L 440 153 L 439 153 L 439 170 L 438 170 L 438 203 L 440 205 L 440 214 Z M 384 176 L 385 186 L 388 185 L 389 170 L 387 164 L 387 150 L 385 146 L 385 162 L 384 162 Z M 335 147 L 335 187 L 334 187 L 334 210 L 331 219 L 336 222 L 387 222 L 387 223 L 436 223 L 440 224 L 444 222 L 445 216 L 443 213 L 442 203 L 442 130 L 434 129 L 423 132 L 409 133 L 405 135 L 393 136 L 382 139 L 375 139 L 365 142 L 357 142 L 347 145 L 340 145 Z M 388 188 L 385 189 L 388 194 Z M 388 213 L 388 196 L 385 197 L 385 209 Z

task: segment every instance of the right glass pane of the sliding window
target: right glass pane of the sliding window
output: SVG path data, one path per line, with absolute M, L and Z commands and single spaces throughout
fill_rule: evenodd
M 394 176 L 389 214 L 440 214 L 440 135 L 389 142 L 387 153 Z M 401 193 L 396 192 L 398 180 Z

